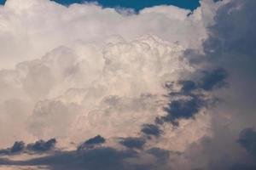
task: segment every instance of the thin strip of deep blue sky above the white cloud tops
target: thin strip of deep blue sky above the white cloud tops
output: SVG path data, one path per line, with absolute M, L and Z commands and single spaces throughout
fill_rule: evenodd
M 0 0 L 0 3 L 4 3 L 6 0 Z M 94 2 L 96 0 L 87 0 L 87 2 Z M 82 3 L 84 0 L 55 0 L 55 2 L 62 4 L 71 3 Z M 124 8 L 134 8 L 136 11 L 152 7 L 155 5 L 167 4 L 175 5 L 181 8 L 195 9 L 199 6 L 199 0 L 97 0 L 103 7 L 124 7 Z

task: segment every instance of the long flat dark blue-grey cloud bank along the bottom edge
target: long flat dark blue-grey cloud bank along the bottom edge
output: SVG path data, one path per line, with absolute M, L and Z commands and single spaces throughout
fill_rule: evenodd
M 100 136 L 88 139 L 93 144 L 102 144 L 96 142 Z M 50 139 L 49 141 L 52 141 Z M 143 150 L 143 145 L 146 140 L 143 138 L 125 138 L 120 139 L 119 143 L 126 146 L 126 149 L 117 149 L 113 147 L 84 147 L 78 150 L 54 150 L 48 152 L 49 155 L 42 155 L 36 158 L 26 159 L 25 161 L 14 161 L 9 158 L 0 158 L 1 166 L 16 166 L 16 167 L 45 167 L 51 170 L 58 169 L 170 169 L 168 161 L 170 153 L 168 150 L 160 148 L 150 148 Z M 35 144 L 41 144 L 42 140 L 37 141 Z M 91 142 L 90 142 L 91 143 Z M 30 145 L 27 144 L 27 150 L 30 150 Z M 80 148 L 79 145 L 78 148 Z M 137 150 L 133 150 L 137 149 Z M 35 150 L 34 150 L 35 151 Z M 38 153 L 43 153 L 39 150 Z M 34 152 L 33 152 L 34 153 Z M 99 163 L 100 162 L 100 163 Z

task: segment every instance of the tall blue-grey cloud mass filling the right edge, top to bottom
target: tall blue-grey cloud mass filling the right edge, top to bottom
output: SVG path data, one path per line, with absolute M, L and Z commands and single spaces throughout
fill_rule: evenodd
M 255 131 L 245 128 L 256 124 L 255 8 L 256 1 L 252 0 L 226 3 L 218 9 L 215 24 L 208 28 L 205 54 L 186 52 L 191 63 L 202 65 L 206 74 L 201 80 L 198 72 L 192 75 L 196 81 L 185 82 L 184 92 L 197 87 L 211 92 L 226 82 L 229 85 L 220 92 L 212 91 L 221 101 L 209 111 L 212 137 L 201 139 L 183 153 L 191 169 L 256 169 Z

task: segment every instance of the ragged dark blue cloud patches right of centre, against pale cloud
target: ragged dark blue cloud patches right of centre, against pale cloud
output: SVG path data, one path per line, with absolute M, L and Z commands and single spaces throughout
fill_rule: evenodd
M 227 72 L 223 68 L 215 68 L 210 71 L 196 71 L 196 81 L 183 80 L 178 81 L 182 87 L 178 92 L 172 91 L 173 83 L 166 85 L 166 88 L 171 89 L 167 95 L 170 98 L 170 103 L 164 108 L 166 116 L 156 117 L 156 124 L 164 122 L 172 122 L 174 126 L 178 126 L 180 119 L 194 118 L 202 108 L 207 107 L 212 100 L 205 99 L 204 92 L 211 92 L 214 89 L 223 88 L 227 84 Z M 197 92 L 195 92 L 197 90 Z M 199 92 L 198 92 L 199 91 Z M 172 99 L 173 96 L 183 96 L 185 99 Z

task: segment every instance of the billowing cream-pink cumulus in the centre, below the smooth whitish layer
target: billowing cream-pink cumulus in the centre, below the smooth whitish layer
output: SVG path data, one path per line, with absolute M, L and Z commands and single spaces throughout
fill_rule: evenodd
M 15 114 L 6 101 L 24 101 L 19 123 L 26 125 L 24 132 L 34 135 L 31 141 L 55 137 L 67 143 L 80 142 L 95 133 L 106 138 L 125 137 L 163 114 L 159 110 L 163 106 L 160 101 L 166 100 L 162 96 L 166 81 L 193 71 L 182 52 L 181 46 L 154 36 L 120 40 L 103 50 L 91 44 L 55 48 L 41 59 L 2 71 L 2 110 Z M 131 123 L 134 126 L 126 126 Z M 6 124 L 6 129 L 9 126 Z

